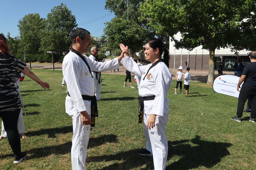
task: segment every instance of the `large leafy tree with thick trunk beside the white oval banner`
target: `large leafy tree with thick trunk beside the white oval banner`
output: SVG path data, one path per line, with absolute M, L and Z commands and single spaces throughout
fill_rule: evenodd
M 243 32 L 249 33 L 244 27 L 248 18 L 252 31 L 249 36 L 255 39 L 254 3 L 252 0 L 147 0 L 139 11 L 140 19 L 147 19 L 147 25 L 156 33 L 171 36 L 176 48 L 191 50 L 202 45 L 209 50 L 207 84 L 213 84 L 215 49 L 241 47 Z M 181 40 L 173 37 L 178 32 L 182 34 Z

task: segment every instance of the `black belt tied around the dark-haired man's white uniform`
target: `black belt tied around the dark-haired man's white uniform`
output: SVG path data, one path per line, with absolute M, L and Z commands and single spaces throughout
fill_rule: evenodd
M 68 93 L 68 96 L 70 97 L 69 93 Z M 83 100 L 91 100 L 91 122 L 92 122 L 91 127 L 94 127 L 95 117 L 99 117 L 96 96 L 82 95 L 82 98 Z

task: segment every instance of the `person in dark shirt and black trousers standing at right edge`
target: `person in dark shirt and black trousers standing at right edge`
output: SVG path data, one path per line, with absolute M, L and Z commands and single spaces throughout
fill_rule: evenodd
M 248 118 L 249 121 L 255 122 L 256 119 L 256 51 L 252 51 L 249 56 L 251 63 L 244 67 L 244 71 L 238 81 L 237 91 L 239 93 L 236 117 L 231 117 L 232 120 L 242 122 L 241 117 L 243 116 L 244 103 L 251 98 L 251 116 Z M 240 85 L 242 85 L 240 91 Z

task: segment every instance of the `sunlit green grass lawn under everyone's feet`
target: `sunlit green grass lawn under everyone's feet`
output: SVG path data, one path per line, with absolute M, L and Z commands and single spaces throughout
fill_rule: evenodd
M 28 152 L 28 157 L 13 165 L 12 150 L 8 140 L 3 139 L 0 169 L 71 169 L 72 119 L 65 113 L 67 93 L 61 86 L 62 72 L 32 71 L 51 88 L 44 90 L 28 77 L 20 83 L 28 114 L 24 116 L 28 138 L 21 139 L 21 150 Z M 138 123 L 138 90 L 124 88 L 123 75 L 103 73 L 102 78 L 99 117 L 88 146 L 88 156 L 94 161 L 86 163 L 87 170 L 154 169 L 152 157 L 137 154 L 146 145 L 143 124 Z M 176 80 L 173 82 L 167 96 L 170 114 L 166 169 L 256 169 L 256 124 L 230 119 L 236 115 L 237 98 L 215 93 L 212 86 L 198 82 L 191 82 L 191 97 L 185 98 L 185 94 L 174 95 Z M 249 115 L 244 113 L 243 120 Z

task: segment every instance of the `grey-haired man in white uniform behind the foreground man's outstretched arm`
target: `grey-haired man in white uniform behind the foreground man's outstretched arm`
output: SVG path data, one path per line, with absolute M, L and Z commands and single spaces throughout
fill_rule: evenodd
M 91 52 L 92 54 L 89 56 L 91 60 L 100 61 L 99 58 L 96 56 L 98 54 L 98 48 L 92 47 Z M 100 100 L 100 93 L 101 93 L 101 72 L 92 71 L 92 77 L 94 79 L 94 86 L 95 86 L 95 96 L 96 100 Z

